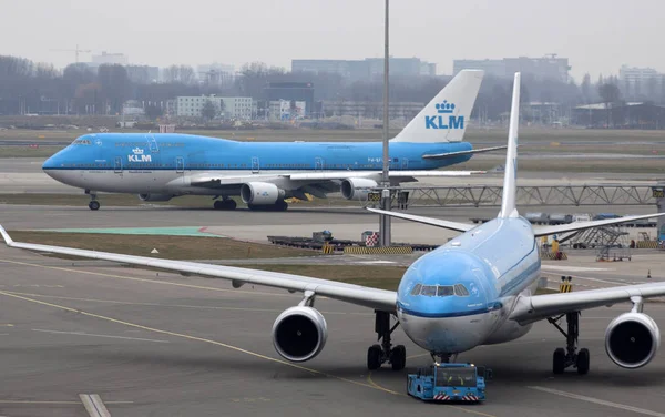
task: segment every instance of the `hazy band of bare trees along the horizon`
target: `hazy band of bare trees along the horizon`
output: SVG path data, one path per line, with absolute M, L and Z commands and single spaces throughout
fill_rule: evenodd
M 269 82 L 311 82 L 315 101 L 380 102 L 382 80 L 349 82 L 335 73 L 297 73 L 283 68 L 252 62 L 242 67 L 231 84 L 221 87 L 198 80 L 188 65 L 172 65 L 163 71 L 162 82 L 132 81 L 127 68 L 70 64 L 57 70 L 51 64 L 0 55 L 0 114 L 120 114 L 123 103 L 136 100 L 146 114 L 156 118 L 165 103 L 178 95 L 252 96 L 265 99 Z M 392 102 L 430 101 L 449 78 L 398 77 L 390 79 Z M 474 115 L 500 120 L 510 108 L 511 80 L 485 75 L 475 102 Z M 531 74 L 522 77 L 523 102 L 552 102 L 562 108 L 586 103 L 620 103 L 622 101 L 665 103 L 665 82 L 647 85 L 621 85 L 616 77 L 592 82 L 586 74 L 580 84 L 542 80 Z

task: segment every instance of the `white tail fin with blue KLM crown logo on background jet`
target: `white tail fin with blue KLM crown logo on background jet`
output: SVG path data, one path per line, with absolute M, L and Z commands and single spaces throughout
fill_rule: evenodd
M 392 142 L 461 142 L 484 71 L 462 70 L 430 101 Z

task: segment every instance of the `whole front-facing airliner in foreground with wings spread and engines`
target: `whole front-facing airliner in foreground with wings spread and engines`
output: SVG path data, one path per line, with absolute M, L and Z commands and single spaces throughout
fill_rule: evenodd
M 293 362 L 314 358 L 326 344 L 326 319 L 315 308 L 316 297 L 321 296 L 376 311 L 375 328 L 381 345 L 368 349 L 367 365 L 370 369 L 387 362 L 393 369 L 405 367 L 405 347 L 391 345 L 391 333 L 397 326 L 391 326 L 390 315 L 397 316 L 407 336 L 430 352 L 432 357 L 450 360 L 454 355 L 477 346 L 516 339 L 525 335 L 534 322 L 625 302 L 632 303 L 633 308 L 610 324 L 605 348 L 610 358 L 622 367 L 644 366 L 656 354 L 661 336 L 656 323 L 643 313 L 643 302 L 648 297 L 665 295 L 665 283 L 534 295 L 541 269 L 535 237 L 658 215 L 554 226 L 533 226 L 520 216 L 515 207 L 519 94 L 518 73 L 512 99 L 503 200 L 497 218 L 472 225 L 383 212 L 463 232 L 416 261 L 405 273 L 397 292 L 266 271 L 19 243 L 12 242 L 1 227 L 0 232 L 11 247 L 225 278 L 235 288 L 256 284 L 300 292 L 301 302 L 282 313 L 272 330 L 277 353 Z M 554 372 L 561 373 L 567 366 L 574 366 L 579 373 L 585 374 L 589 370 L 589 350 L 577 349 L 576 335 L 571 343 L 567 352 L 562 348 L 554 352 Z

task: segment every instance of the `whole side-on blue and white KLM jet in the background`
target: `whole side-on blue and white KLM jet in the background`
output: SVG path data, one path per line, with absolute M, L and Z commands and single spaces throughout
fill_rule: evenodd
M 468 161 L 474 150 L 462 142 L 483 71 L 467 70 L 452 79 L 390 143 L 390 182 L 422 176 L 470 175 L 436 171 Z M 237 142 L 186 134 L 85 134 L 45 161 L 43 171 L 91 195 L 139 194 L 144 201 L 168 201 L 196 194 L 222 197 L 218 210 L 234 210 L 239 195 L 249 208 L 286 210 L 284 199 L 325 199 L 341 191 L 348 200 L 366 199 L 382 173 L 381 142 Z M 480 172 L 478 172 L 480 173 Z

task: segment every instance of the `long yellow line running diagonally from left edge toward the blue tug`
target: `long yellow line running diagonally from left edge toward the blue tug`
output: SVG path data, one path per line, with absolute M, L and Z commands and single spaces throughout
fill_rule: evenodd
M 227 348 L 229 350 L 238 352 L 238 353 L 246 354 L 246 355 L 249 355 L 249 356 L 254 356 L 254 357 L 257 357 L 257 358 L 260 358 L 260 359 L 273 362 L 273 363 L 276 363 L 276 364 L 286 365 L 286 366 L 289 366 L 291 368 L 305 370 L 305 372 L 308 372 L 310 374 L 323 375 L 323 376 L 326 376 L 326 377 L 329 377 L 329 378 L 335 378 L 335 379 L 338 379 L 338 380 L 341 380 L 341 382 L 345 382 L 345 383 L 349 383 L 349 384 L 354 384 L 354 385 L 358 385 L 358 386 L 362 386 L 362 387 L 368 387 L 368 388 L 372 388 L 372 389 L 379 389 L 379 390 L 382 390 L 382 391 L 388 393 L 388 394 L 403 395 L 403 394 L 399 394 L 399 393 L 393 391 L 393 390 L 388 389 L 388 388 L 375 387 L 375 386 L 372 386 L 370 384 L 360 383 L 358 380 L 352 380 L 352 379 L 344 378 L 344 377 L 336 376 L 336 375 L 332 375 L 332 374 L 328 374 L 328 373 L 325 373 L 325 372 L 321 372 L 321 370 L 308 368 L 308 367 L 305 367 L 305 366 L 301 366 L 301 365 L 291 364 L 291 363 L 286 362 L 286 360 L 276 359 L 276 358 L 273 358 L 273 357 L 269 357 L 269 356 L 265 356 L 265 355 L 258 354 L 256 352 L 247 350 L 247 349 L 244 349 L 242 347 L 228 345 L 228 344 L 225 344 L 225 343 L 222 343 L 222 342 L 206 339 L 206 338 L 197 337 L 197 336 L 185 335 L 185 334 L 182 334 L 182 333 L 162 330 L 162 329 L 154 328 L 154 327 L 147 327 L 147 326 L 143 326 L 143 325 L 135 324 L 135 323 L 124 322 L 124 321 L 121 321 L 121 319 L 117 319 L 117 318 L 113 318 L 113 317 L 102 316 L 100 314 L 89 313 L 89 312 L 84 312 L 84 311 L 81 311 L 81 309 L 66 307 L 66 306 L 63 306 L 63 305 L 47 303 L 47 302 L 42 302 L 40 299 L 24 297 L 24 296 L 18 295 L 18 294 L 11 294 L 11 293 L 8 293 L 6 291 L 0 291 L 0 295 L 4 295 L 4 296 L 8 296 L 8 297 L 13 297 L 13 298 L 18 298 L 18 299 L 23 299 L 23 301 L 35 303 L 35 304 L 41 304 L 41 305 L 49 306 L 49 307 L 52 307 L 52 308 L 63 309 L 65 312 L 78 313 L 78 314 L 81 314 L 81 315 L 84 315 L 84 316 L 94 317 L 94 318 L 99 318 L 99 319 L 102 319 L 102 321 L 105 321 L 105 322 L 116 323 L 116 324 L 121 324 L 121 325 L 129 326 L 129 327 L 140 328 L 140 329 L 143 329 L 143 330 L 153 332 L 153 333 L 158 333 L 158 334 L 162 334 L 162 335 L 181 337 L 181 338 L 184 338 L 184 339 L 195 340 L 195 342 L 203 342 L 203 343 L 207 343 L 207 344 L 211 344 L 211 345 L 225 347 L 225 348 Z

